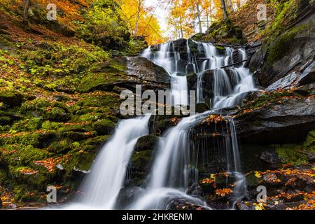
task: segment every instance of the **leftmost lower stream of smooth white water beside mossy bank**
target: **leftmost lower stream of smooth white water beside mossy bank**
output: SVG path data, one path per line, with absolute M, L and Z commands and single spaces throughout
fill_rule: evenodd
M 147 115 L 118 123 L 113 137 L 101 148 L 92 172 L 83 182 L 83 199 L 66 209 L 114 208 L 134 146 L 140 137 L 148 134 L 149 118 L 150 115 Z

